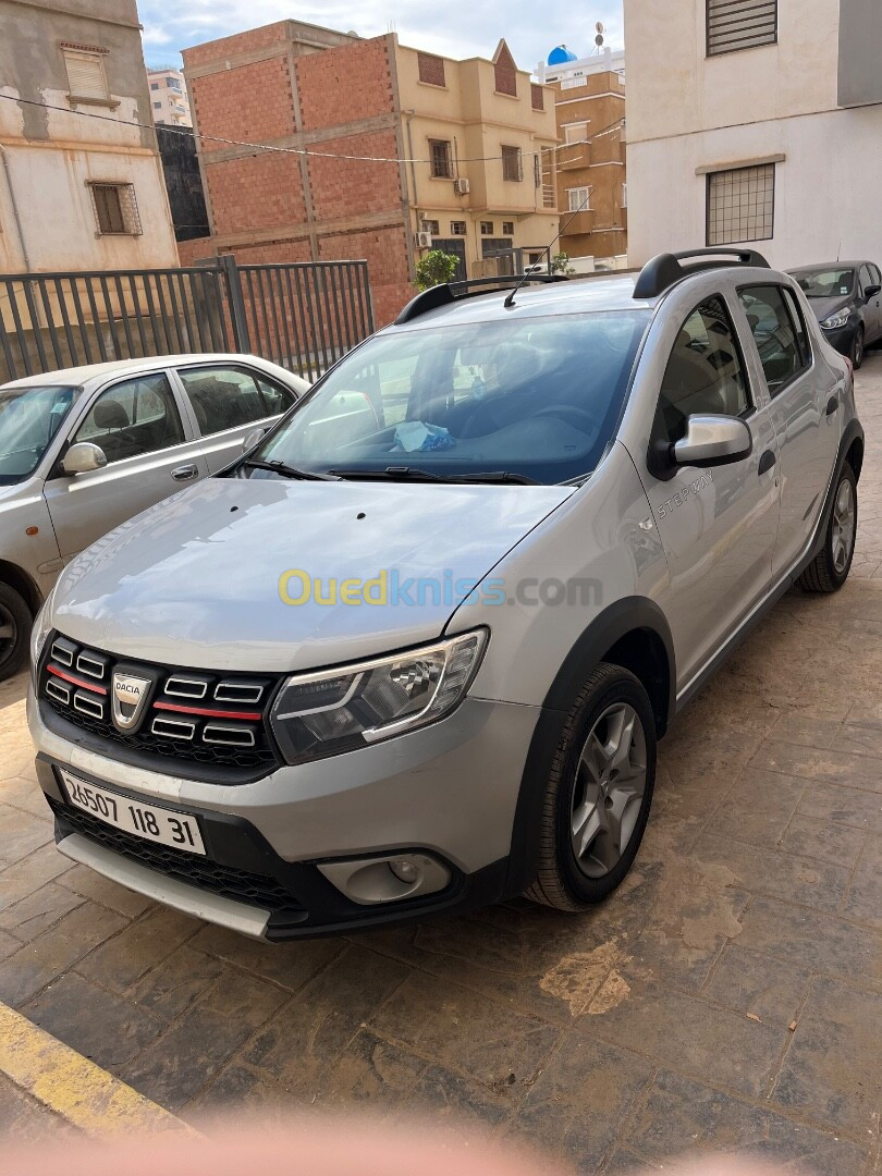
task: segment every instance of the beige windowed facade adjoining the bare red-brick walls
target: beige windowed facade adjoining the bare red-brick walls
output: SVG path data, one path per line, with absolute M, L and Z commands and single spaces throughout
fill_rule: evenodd
M 540 262 L 557 233 L 553 91 L 517 69 L 505 40 L 492 60 L 395 47 L 406 192 L 416 253 L 443 249 L 460 276 Z

